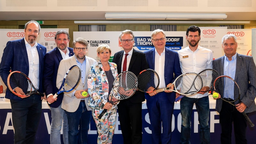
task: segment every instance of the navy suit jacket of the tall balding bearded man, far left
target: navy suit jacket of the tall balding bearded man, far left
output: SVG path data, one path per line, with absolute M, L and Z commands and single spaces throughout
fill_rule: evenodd
M 43 68 L 44 68 L 44 55 L 46 53 L 46 47 L 41 44 L 36 46 L 39 55 L 39 92 L 43 91 Z M 26 50 L 24 38 L 14 41 L 9 41 L 4 48 L 2 61 L 0 64 L 0 76 L 7 86 L 7 77 L 12 71 L 21 71 L 28 76 L 28 53 Z M 6 90 L 5 98 L 10 100 L 22 100 L 20 97 L 12 94 L 8 89 Z

